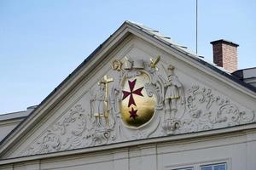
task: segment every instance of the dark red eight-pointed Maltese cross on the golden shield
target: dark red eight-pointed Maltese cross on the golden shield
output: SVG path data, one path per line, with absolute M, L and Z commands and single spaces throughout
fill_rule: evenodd
M 136 90 L 133 91 L 135 84 L 136 84 L 137 79 L 135 79 L 134 81 L 130 82 L 128 80 L 129 83 L 129 88 L 130 88 L 130 92 L 127 92 L 125 90 L 123 90 L 123 99 L 127 98 L 130 95 L 130 99 L 129 99 L 129 103 L 128 103 L 128 107 L 130 107 L 130 105 L 136 105 L 134 99 L 133 99 L 133 94 L 137 94 L 139 96 L 143 96 L 142 94 L 142 90 L 143 88 L 137 88 Z

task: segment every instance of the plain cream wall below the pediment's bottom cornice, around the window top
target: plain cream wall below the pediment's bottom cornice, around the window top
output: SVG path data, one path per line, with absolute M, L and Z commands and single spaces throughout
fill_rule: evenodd
M 208 163 L 227 162 L 229 170 L 255 170 L 256 130 L 143 144 L 118 150 L 104 150 L 77 156 L 23 161 L 0 169 L 40 170 L 171 170 Z

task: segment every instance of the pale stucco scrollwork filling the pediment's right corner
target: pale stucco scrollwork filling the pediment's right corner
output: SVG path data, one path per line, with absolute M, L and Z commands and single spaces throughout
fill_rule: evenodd
M 177 133 L 198 132 L 255 122 L 253 111 L 241 111 L 212 89 L 194 85 L 187 90 L 187 113 Z

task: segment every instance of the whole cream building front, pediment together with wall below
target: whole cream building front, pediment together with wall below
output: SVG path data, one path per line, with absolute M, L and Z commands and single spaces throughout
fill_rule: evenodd
M 255 94 L 125 21 L 2 140 L 0 169 L 253 170 Z

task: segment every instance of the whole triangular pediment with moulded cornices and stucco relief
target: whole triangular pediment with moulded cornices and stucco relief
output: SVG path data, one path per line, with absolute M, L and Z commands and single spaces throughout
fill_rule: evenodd
M 255 122 L 255 92 L 147 29 L 125 22 L 3 141 L 2 158 Z

